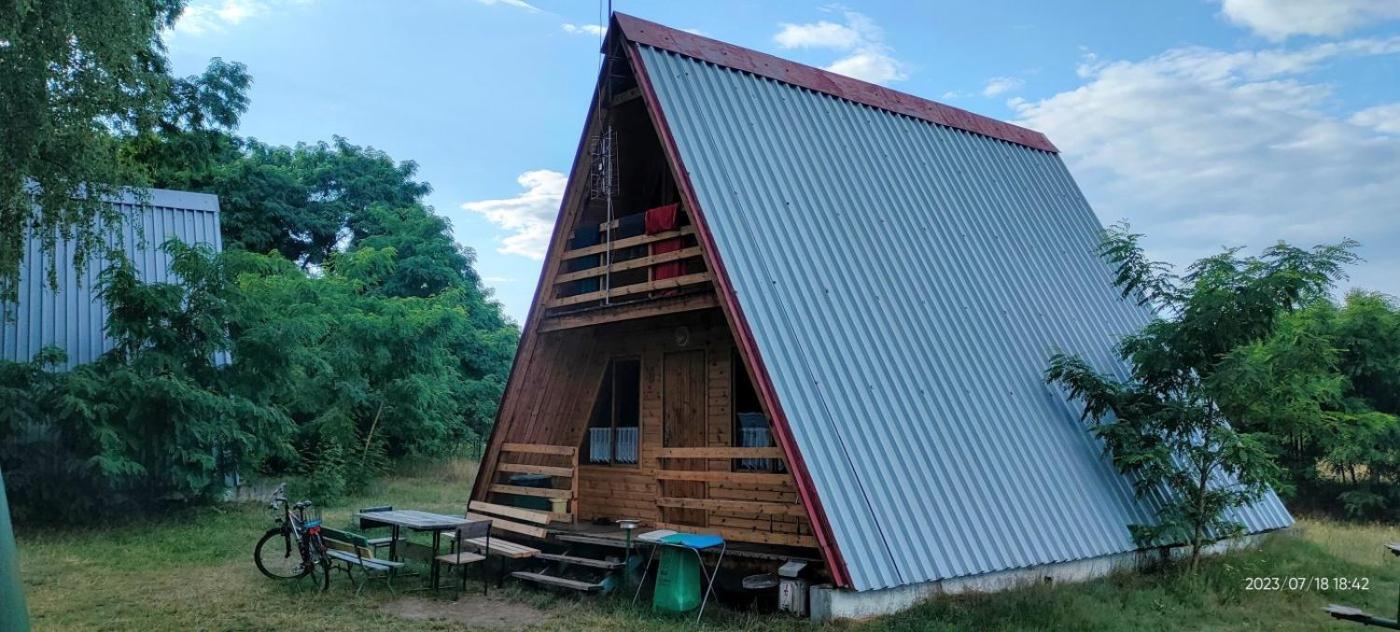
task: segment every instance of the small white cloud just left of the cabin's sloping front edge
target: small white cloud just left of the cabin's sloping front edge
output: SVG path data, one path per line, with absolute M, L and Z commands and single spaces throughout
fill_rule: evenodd
M 568 178 L 559 171 L 535 170 L 521 174 L 515 181 L 525 189 L 521 195 L 468 202 L 462 209 L 480 213 L 487 221 L 511 231 L 501 240 L 497 252 L 543 259 Z

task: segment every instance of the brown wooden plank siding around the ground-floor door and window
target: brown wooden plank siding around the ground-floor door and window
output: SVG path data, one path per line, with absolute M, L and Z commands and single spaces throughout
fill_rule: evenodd
M 685 328 L 683 332 L 679 328 Z M 685 345 L 680 345 L 685 339 Z M 801 507 L 791 475 L 731 472 L 732 458 L 781 458 L 778 448 L 732 448 L 734 341 L 718 310 L 707 308 L 657 318 L 609 322 L 543 334 L 524 367 L 524 392 L 517 399 L 501 444 L 578 446 L 577 517 L 638 518 L 647 525 L 668 524 L 679 511 L 703 511 L 706 528 L 753 544 L 809 545 L 811 524 Z M 664 357 L 679 350 L 704 350 L 704 447 L 696 453 L 668 451 L 662 441 Z M 612 357 L 641 359 L 641 429 L 637 465 L 589 465 L 584 436 L 603 369 Z M 514 447 L 514 446 L 512 446 Z M 693 454 L 697 458 L 680 458 Z M 664 455 L 671 455 L 664 458 Z M 722 457 L 722 458 L 721 458 Z M 511 462 L 532 462 L 540 474 L 564 467 L 563 457 L 511 454 Z M 679 465 L 679 467 L 678 467 Z M 662 471 L 665 468 L 665 471 Z M 493 485 L 508 485 L 507 467 L 494 472 Z M 682 474 L 676 474 L 682 471 Z M 692 476 L 685 472 L 697 472 Z M 659 476 L 700 478 L 703 496 L 665 500 Z M 706 481 L 706 478 L 713 478 Z M 556 479 L 560 485 L 567 479 Z M 500 488 L 497 488 L 500 489 Z

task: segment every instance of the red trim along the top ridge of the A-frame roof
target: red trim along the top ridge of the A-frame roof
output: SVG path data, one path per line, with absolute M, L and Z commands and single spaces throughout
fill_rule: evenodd
M 1050 153 L 1060 153 L 1046 135 L 997 121 L 966 109 L 944 105 L 937 101 L 889 90 L 882 85 L 836 74 L 812 66 L 804 66 L 787 59 L 774 57 L 767 53 L 725 43 L 700 35 L 678 31 L 657 22 L 648 22 L 623 13 L 615 13 L 613 18 L 622 28 L 622 34 L 629 41 L 644 43 L 687 57 L 700 59 L 718 66 L 743 70 L 757 76 L 774 78 L 792 85 L 801 85 L 832 97 L 855 101 L 872 108 L 888 109 L 931 123 L 945 125 L 966 132 L 1001 139 L 1008 143 L 1022 144 Z

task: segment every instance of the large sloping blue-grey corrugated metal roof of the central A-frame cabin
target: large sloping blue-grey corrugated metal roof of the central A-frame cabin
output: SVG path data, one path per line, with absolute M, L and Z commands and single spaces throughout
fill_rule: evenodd
M 1043 376 L 1121 374 L 1149 315 L 1060 157 L 637 50 L 851 586 L 1133 551 L 1151 510 Z

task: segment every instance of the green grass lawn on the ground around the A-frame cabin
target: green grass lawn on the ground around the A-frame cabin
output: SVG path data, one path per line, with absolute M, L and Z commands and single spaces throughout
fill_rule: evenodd
M 454 462 L 403 471 L 370 493 L 326 507 L 328 524 L 346 524 L 353 507 L 396 504 L 459 513 L 475 465 Z M 270 527 L 259 506 L 224 506 L 101 530 L 20 531 L 20 562 L 35 629 L 696 629 L 652 617 L 620 597 L 574 597 L 512 586 L 490 598 L 391 594 L 382 583 L 356 597 L 343 573 L 325 594 L 258 573 L 252 547 Z M 1299 520 L 1259 549 L 1210 559 L 1201 573 L 1124 573 L 1061 586 L 944 598 L 909 612 L 840 625 L 851 629 L 1357 629 L 1320 608 L 1345 603 L 1394 615 L 1400 559 L 1382 544 L 1400 541 L 1396 525 Z M 1246 590 L 1249 577 L 1365 579 L 1369 590 Z M 413 580 L 400 582 L 400 589 Z M 447 617 L 434 619 L 427 617 Z M 714 608 L 710 628 L 806 629 L 805 621 Z

